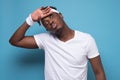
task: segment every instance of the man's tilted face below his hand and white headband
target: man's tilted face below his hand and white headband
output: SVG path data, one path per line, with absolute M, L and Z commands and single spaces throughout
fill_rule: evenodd
M 55 12 L 41 19 L 41 22 L 46 30 L 50 31 L 51 33 L 56 33 L 59 29 L 63 27 L 62 15 Z

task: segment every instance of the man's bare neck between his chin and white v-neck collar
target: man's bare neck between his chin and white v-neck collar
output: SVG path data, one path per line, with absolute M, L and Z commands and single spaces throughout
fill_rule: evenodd
M 67 25 L 65 25 L 60 32 L 56 33 L 56 37 L 61 41 L 67 41 L 74 37 L 74 30 L 70 29 Z

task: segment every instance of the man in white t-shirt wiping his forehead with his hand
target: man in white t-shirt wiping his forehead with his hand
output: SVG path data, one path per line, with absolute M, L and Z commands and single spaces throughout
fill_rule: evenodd
M 33 23 L 48 33 L 25 36 Z M 54 7 L 35 10 L 10 39 L 12 45 L 45 50 L 45 80 L 87 80 L 90 61 L 96 80 L 106 80 L 94 39 L 87 33 L 70 29 Z

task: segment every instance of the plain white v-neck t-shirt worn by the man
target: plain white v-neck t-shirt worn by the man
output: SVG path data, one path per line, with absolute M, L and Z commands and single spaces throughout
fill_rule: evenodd
M 49 33 L 34 38 L 45 51 L 45 80 L 87 80 L 88 59 L 99 55 L 89 34 L 75 31 L 74 38 L 66 42 Z

